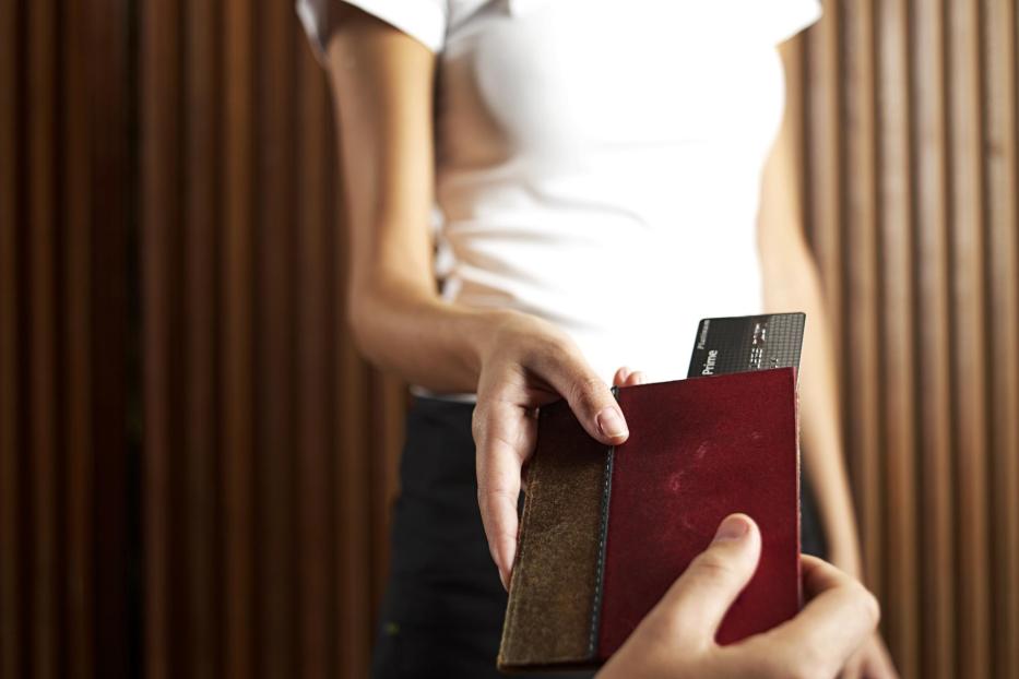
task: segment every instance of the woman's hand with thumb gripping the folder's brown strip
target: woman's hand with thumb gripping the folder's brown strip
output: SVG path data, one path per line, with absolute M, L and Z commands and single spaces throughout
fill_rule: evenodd
M 552 323 L 508 313 L 479 356 L 473 418 L 477 503 L 505 587 L 517 552 L 520 474 L 536 442 L 536 408 L 566 398 L 588 433 L 606 445 L 623 443 L 629 431 L 608 385 Z M 642 379 L 640 372 L 620 368 L 614 382 L 621 386 Z

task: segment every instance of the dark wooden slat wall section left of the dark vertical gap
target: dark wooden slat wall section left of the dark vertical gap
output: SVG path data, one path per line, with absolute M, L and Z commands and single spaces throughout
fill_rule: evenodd
M 0 4 L 3 677 L 129 670 L 129 24 L 88 9 Z

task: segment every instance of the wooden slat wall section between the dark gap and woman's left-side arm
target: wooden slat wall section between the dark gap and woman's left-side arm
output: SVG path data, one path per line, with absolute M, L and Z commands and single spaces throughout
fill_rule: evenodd
M 365 676 L 406 395 L 344 329 L 324 74 L 288 2 L 139 48 L 145 671 Z

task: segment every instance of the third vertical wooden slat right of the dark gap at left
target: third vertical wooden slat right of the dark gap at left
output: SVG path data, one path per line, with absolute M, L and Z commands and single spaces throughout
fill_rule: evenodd
M 224 218 L 222 272 L 222 441 L 224 502 L 225 675 L 251 677 L 253 664 L 252 575 L 252 221 L 253 172 L 252 61 L 253 5 L 223 4 L 222 111 L 224 135 Z

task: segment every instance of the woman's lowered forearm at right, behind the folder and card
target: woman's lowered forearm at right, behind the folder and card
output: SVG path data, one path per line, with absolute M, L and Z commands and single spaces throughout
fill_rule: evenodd
M 807 476 L 814 488 L 829 559 L 861 575 L 860 544 L 839 428 L 838 386 L 831 332 L 820 279 L 809 253 L 795 251 L 772 267 L 765 301 L 770 310 L 807 314 L 801 360 L 801 419 Z

